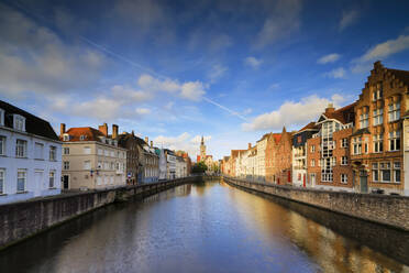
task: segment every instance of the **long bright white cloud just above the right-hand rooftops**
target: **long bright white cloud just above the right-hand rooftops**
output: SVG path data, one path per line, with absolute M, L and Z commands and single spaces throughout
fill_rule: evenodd
M 266 112 L 255 117 L 252 122 L 242 123 L 244 131 L 280 130 L 283 125 L 303 125 L 316 120 L 322 113 L 328 103 L 333 102 L 335 107 L 344 98 L 338 94 L 331 99 L 309 96 L 300 101 L 286 101 L 278 110 Z

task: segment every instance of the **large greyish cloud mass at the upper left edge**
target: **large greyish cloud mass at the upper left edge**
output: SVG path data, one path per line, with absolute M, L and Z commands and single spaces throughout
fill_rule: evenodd
M 47 28 L 0 4 L 0 94 L 63 94 L 93 83 L 106 63 L 96 51 L 65 44 Z

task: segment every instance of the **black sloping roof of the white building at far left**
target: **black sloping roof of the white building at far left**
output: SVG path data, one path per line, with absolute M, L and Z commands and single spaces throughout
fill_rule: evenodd
M 13 128 L 13 114 L 16 113 L 25 118 L 25 132 L 51 140 L 58 140 L 57 134 L 48 121 L 35 117 L 34 114 L 31 114 L 2 100 L 0 100 L 0 108 L 4 110 L 5 127 Z

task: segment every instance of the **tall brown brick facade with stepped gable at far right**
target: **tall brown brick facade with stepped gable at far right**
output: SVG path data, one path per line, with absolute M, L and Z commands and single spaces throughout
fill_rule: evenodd
M 357 192 L 408 195 L 407 121 L 401 118 L 408 111 L 408 87 L 409 72 L 374 64 L 355 106 L 351 153 Z

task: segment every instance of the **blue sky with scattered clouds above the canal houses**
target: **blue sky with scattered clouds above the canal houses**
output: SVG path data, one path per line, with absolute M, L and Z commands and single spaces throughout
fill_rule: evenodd
M 408 1 L 0 0 L 0 98 L 214 159 L 409 70 Z

